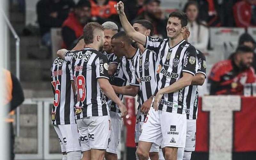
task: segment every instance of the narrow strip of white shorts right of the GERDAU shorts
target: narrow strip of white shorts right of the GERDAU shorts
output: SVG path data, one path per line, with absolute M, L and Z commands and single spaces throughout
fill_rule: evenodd
M 196 148 L 196 119 L 187 119 L 186 151 L 195 151 Z

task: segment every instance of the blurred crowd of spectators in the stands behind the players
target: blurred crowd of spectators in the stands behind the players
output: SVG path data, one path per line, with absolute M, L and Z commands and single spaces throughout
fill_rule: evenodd
M 77 0 L 76 3 L 73 0 L 38 1 L 36 11 L 42 44 L 51 52 L 51 28 L 61 28 L 62 48 L 66 49 L 75 46 L 79 37 L 83 35 L 84 25 L 88 22 L 102 24 L 105 21 L 113 21 L 122 29 L 114 8 L 116 2 L 117 0 Z M 165 28 L 170 11 L 163 10 L 161 7 L 163 1 L 123 0 L 123 2 L 127 18 L 131 23 L 141 19 L 149 20 L 155 28 L 154 36 L 167 38 Z M 188 0 L 183 11 L 188 16 L 190 31 L 188 42 L 206 55 L 211 48 L 209 27 L 256 27 L 256 0 Z M 243 94 L 242 86 L 255 82 L 255 41 L 247 33 L 237 41 L 239 47 L 230 58 L 213 65 L 208 78 L 208 83 L 212 86 L 210 94 Z M 247 75 L 251 73 L 253 76 L 247 80 Z

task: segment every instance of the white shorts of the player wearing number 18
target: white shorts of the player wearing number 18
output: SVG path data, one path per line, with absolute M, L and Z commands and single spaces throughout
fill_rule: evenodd
M 76 121 L 80 133 L 81 151 L 107 149 L 110 136 L 110 116 L 92 116 Z

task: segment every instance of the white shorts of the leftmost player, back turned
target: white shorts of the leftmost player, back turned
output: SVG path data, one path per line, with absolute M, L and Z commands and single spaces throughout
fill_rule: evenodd
M 53 125 L 53 127 L 59 137 L 61 152 L 81 150 L 76 124 Z

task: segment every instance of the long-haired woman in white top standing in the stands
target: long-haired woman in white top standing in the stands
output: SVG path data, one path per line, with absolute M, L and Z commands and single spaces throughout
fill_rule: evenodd
M 206 52 L 209 41 L 209 30 L 198 19 L 198 4 L 195 1 L 189 1 L 184 7 L 184 12 L 188 16 L 188 27 L 191 34 L 188 37 L 188 42 L 201 52 Z

